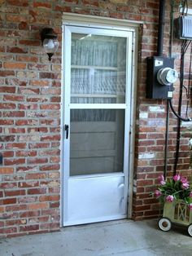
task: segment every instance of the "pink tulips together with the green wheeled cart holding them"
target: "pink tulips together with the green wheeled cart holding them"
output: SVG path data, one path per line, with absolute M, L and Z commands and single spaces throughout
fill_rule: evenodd
M 159 219 L 159 228 L 167 232 L 172 223 L 187 226 L 192 236 L 192 185 L 180 174 L 171 179 L 159 176 L 159 188 L 155 190 L 155 196 L 164 203 L 163 217 Z

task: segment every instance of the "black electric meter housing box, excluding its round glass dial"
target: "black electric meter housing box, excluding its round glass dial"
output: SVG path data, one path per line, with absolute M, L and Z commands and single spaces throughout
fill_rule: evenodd
M 174 59 L 153 56 L 147 58 L 146 98 L 172 99 L 173 84 L 164 85 L 158 81 L 158 72 L 164 68 L 173 68 Z

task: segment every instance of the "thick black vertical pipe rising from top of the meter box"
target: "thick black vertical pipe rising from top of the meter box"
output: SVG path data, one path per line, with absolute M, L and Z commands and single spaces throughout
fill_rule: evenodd
M 165 0 L 159 0 L 159 29 L 157 41 L 157 55 L 163 55 L 164 44 L 164 13 L 165 13 Z

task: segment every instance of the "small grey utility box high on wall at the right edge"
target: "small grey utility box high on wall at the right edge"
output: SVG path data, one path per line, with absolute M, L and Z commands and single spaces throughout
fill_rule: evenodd
M 178 39 L 192 40 L 192 16 L 180 16 L 174 20 L 174 34 Z

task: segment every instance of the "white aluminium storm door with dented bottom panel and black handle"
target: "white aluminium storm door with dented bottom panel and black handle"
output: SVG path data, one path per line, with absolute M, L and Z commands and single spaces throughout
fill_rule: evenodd
M 133 33 L 63 33 L 63 225 L 126 218 Z

